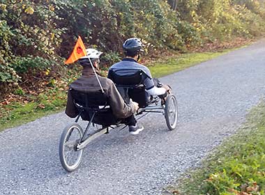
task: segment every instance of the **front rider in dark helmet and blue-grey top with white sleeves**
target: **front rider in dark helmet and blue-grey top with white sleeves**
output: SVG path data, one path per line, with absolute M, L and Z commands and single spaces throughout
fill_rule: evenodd
M 144 86 L 148 93 L 147 95 L 158 95 L 160 98 L 165 98 L 167 92 L 170 90 L 169 86 L 160 84 L 158 79 L 152 79 L 150 70 L 146 66 L 137 63 L 140 58 L 140 52 L 143 51 L 142 47 L 142 42 L 138 38 L 128 38 L 123 43 L 125 58 L 112 65 L 109 70 L 119 70 L 119 75 L 126 76 L 131 75 L 133 73 L 132 71 L 140 69 L 147 75 L 147 77 L 143 78 Z M 130 116 L 129 118 L 130 123 L 128 125 L 130 134 L 138 134 L 140 131 L 144 130 L 142 125 L 136 124 L 137 121 L 134 116 Z

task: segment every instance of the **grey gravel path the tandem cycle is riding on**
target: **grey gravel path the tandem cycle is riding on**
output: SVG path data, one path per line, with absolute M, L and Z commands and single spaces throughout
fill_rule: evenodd
M 179 127 L 160 114 L 137 136 L 114 130 L 93 141 L 74 173 L 58 156 L 63 113 L 0 133 L 0 194 L 160 194 L 180 173 L 232 134 L 265 95 L 265 41 L 259 41 L 162 81 L 178 96 Z

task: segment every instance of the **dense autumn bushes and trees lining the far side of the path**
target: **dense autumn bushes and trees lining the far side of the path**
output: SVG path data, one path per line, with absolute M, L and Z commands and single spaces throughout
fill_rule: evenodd
M 77 35 L 111 64 L 132 36 L 152 54 L 262 36 L 264 29 L 262 0 L 1 0 L 0 101 L 22 85 L 66 76 L 63 60 Z

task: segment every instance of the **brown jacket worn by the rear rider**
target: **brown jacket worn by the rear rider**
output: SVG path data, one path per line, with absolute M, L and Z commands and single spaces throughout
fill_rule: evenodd
M 98 79 L 100 80 L 103 90 L 109 99 L 109 106 L 111 107 L 114 116 L 117 118 L 127 118 L 135 113 L 136 110 L 134 104 L 131 102 L 130 104 L 126 104 L 126 102 L 124 102 L 112 80 L 100 77 L 100 75 L 98 75 Z M 77 91 L 95 91 L 95 89 L 100 89 L 100 85 L 98 84 L 93 69 L 85 67 L 83 69 L 82 76 L 70 84 L 69 88 L 73 88 Z M 73 104 L 72 95 L 68 91 L 66 115 L 71 118 L 75 118 L 78 114 L 79 112 L 77 111 L 75 104 Z

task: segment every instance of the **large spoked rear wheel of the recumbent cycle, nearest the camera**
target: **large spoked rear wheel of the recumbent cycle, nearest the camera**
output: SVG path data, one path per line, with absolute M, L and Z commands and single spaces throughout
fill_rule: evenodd
M 82 127 L 73 123 L 64 128 L 59 144 L 59 157 L 61 165 L 68 172 L 75 171 L 79 166 L 83 150 L 77 150 L 77 144 L 84 134 Z

